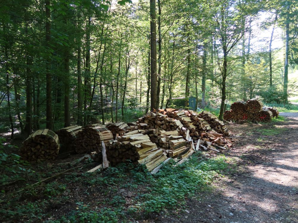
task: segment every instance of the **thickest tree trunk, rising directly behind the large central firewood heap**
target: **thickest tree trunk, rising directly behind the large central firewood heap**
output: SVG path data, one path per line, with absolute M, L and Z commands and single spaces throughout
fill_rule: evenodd
M 151 110 L 157 109 L 157 73 L 156 73 L 156 6 L 150 0 L 150 54 L 151 54 Z

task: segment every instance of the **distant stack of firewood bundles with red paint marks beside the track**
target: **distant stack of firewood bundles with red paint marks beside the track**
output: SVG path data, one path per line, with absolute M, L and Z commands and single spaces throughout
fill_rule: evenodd
M 224 112 L 224 120 L 270 122 L 272 117 L 278 117 L 278 114 L 277 109 L 263 107 L 263 103 L 259 98 L 253 98 L 246 102 L 234 102 L 231 105 L 231 110 Z

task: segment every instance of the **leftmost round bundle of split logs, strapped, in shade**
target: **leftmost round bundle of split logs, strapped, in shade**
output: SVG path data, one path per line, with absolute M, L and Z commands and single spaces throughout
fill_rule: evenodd
M 19 153 L 24 160 L 40 162 L 54 160 L 59 153 L 59 138 L 49 129 L 37 130 L 21 145 Z

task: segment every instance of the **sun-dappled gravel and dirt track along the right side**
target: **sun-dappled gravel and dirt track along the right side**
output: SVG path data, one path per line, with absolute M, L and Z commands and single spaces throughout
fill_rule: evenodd
M 215 183 L 212 192 L 187 201 L 179 214 L 156 222 L 298 222 L 298 113 L 281 112 L 286 122 L 234 124 L 238 143 L 226 156 L 238 170 Z M 273 136 L 263 129 L 283 128 Z

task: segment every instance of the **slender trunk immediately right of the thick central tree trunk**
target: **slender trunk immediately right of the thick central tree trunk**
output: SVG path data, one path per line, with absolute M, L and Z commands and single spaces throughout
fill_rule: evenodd
M 158 5 L 158 81 L 157 81 L 157 92 L 156 92 L 156 108 L 159 108 L 159 95 L 160 95 L 160 83 L 162 73 L 162 30 L 161 30 L 161 14 L 162 7 L 160 4 L 161 0 L 157 0 Z

